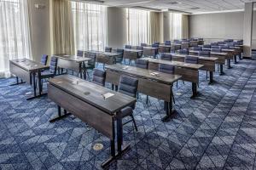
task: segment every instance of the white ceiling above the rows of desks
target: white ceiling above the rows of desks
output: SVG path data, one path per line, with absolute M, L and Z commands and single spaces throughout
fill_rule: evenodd
M 95 0 L 97 1 L 97 0 Z M 239 10 L 255 0 L 98 0 L 109 6 L 174 9 L 189 13 Z

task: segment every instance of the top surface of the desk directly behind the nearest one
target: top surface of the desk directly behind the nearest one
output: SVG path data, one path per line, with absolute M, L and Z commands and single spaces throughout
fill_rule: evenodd
M 126 74 L 131 74 L 136 77 L 147 78 L 156 82 L 162 82 L 170 85 L 173 82 L 177 82 L 177 80 L 181 78 L 181 76 L 179 75 L 166 74 L 159 71 L 151 71 L 148 69 L 142 69 L 130 65 L 107 65 L 105 68 L 110 71 L 124 72 Z

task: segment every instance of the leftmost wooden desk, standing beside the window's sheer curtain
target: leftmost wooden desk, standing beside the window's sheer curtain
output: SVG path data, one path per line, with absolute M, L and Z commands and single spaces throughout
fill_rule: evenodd
M 12 59 L 9 60 L 9 71 L 11 74 L 16 76 L 16 83 L 11 85 L 18 85 L 20 83 L 24 83 L 23 81 L 29 82 L 33 86 L 33 96 L 27 99 L 34 99 L 42 94 L 42 86 L 41 86 L 41 71 L 48 69 L 49 66 L 42 65 L 36 61 L 31 59 Z M 36 82 L 36 75 L 38 76 L 38 94 L 37 94 L 37 82 Z M 21 82 L 19 82 L 19 77 Z

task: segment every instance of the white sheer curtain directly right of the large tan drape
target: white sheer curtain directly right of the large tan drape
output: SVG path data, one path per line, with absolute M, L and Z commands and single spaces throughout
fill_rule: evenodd
M 108 42 L 107 7 L 72 2 L 73 28 L 76 49 L 103 50 Z

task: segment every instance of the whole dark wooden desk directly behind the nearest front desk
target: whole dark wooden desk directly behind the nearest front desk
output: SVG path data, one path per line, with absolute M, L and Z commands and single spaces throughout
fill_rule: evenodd
M 138 79 L 137 91 L 142 94 L 162 99 L 166 104 L 166 116 L 162 118 L 166 122 L 172 116 L 172 86 L 174 82 L 182 77 L 176 74 L 166 74 L 159 71 L 151 71 L 130 65 L 108 65 L 106 66 L 106 82 L 115 86 L 119 85 L 119 77 L 126 75 Z

